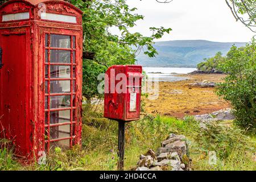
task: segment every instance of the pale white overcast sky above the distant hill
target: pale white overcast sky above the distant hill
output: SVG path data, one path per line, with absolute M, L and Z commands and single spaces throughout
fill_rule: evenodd
M 127 0 L 127 3 L 137 7 L 136 13 L 144 15 L 144 20 L 131 29 L 133 32 L 150 36 L 149 27 L 172 28 L 170 35 L 156 41 L 249 42 L 255 35 L 241 22 L 236 22 L 225 0 L 174 0 L 167 4 L 155 0 Z

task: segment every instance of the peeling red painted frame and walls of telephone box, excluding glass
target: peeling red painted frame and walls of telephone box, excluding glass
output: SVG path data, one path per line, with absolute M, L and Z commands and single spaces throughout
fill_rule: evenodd
M 38 15 L 38 3 L 46 4 L 46 13 L 76 16 L 77 23 L 55 22 L 42 20 Z M 49 7 L 49 8 L 48 8 Z M 29 19 L 10 20 L 3 22 L 2 16 L 28 12 Z M 70 48 L 47 47 L 45 36 L 68 35 L 71 38 Z M 73 39 L 73 37 L 75 39 Z M 57 142 L 61 138 L 49 139 L 45 129 L 52 128 L 52 123 L 45 121 L 45 111 L 70 110 L 69 147 L 81 143 L 81 106 L 82 106 L 82 11 L 64 1 L 22 1 L 12 0 L 0 7 L 0 47 L 3 49 L 3 67 L 0 69 L 0 137 L 13 140 L 15 154 L 28 160 L 38 152 L 49 151 L 47 143 Z M 57 64 L 57 67 L 70 67 L 70 92 L 46 93 L 45 82 L 51 81 L 46 77 L 46 65 L 53 64 L 45 51 L 52 49 L 71 52 L 71 63 Z M 73 54 L 73 52 L 75 52 Z M 75 55 L 75 57 L 73 57 Z M 75 67 L 73 69 L 72 67 Z M 73 76 L 73 71 L 75 71 Z M 76 90 L 72 89 L 73 84 Z M 48 90 L 50 88 L 50 84 Z M 45 98 L 52 96 L 70 97 L 69 108 L 50 108 L 52 100 L 45 108 Z M 72 103 L 73 102 L 73 103 Z M 49 117 L 47 115 L 47 117 Z M 49 118 L 48 118 L 49 119 Z M 50 118 L 51 119 L 51 118 Z M 55 118 L 56 119 L 56 118 Z M 67 119 L 66 119 L 67 120 Z M 59 129 L 63 123 L 53 123 Z M 49 136 L 48 136 L 49 137 Z M 47 147 L 46 147 L 47 146 Z

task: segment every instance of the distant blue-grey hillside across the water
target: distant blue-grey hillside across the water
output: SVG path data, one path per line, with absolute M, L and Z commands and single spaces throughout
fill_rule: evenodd
M 156 42 L 154 47 L 158 50 L 159 55 L 149 58 L 141 53 L 137 59 L 138 64 L 144 67 L 196 67 L 204 58 L 213 57 L 218 51 L 226 55 L 233 44 L 242 47 L 246 43 L 221 43 L 207 40 Z

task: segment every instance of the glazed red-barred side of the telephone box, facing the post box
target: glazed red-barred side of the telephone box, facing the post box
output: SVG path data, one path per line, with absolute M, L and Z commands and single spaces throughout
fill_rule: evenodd
M 45 149 L 75 144 L 77 123 L 77 36 L 43 31 Z

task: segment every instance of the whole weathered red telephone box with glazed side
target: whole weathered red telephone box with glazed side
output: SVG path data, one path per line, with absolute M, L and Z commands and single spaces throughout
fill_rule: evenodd
M 80 144 L 82 11 L 65 1 L 8 1 L 0 47 L 0 137 L 28 159 Z

